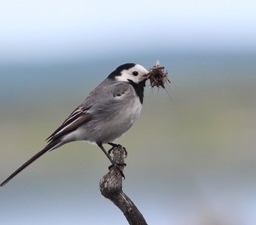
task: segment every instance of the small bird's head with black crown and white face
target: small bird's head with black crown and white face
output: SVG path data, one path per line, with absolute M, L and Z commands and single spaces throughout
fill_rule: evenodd
M 123 82 L 141 83 L 148 80 L 148 73 L 149 71 L 142 65 L 126 63 L 116 68 L 115 71 L 109 74 L 108 78 Z

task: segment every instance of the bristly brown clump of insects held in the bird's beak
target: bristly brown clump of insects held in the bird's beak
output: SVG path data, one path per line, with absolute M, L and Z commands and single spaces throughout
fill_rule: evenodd
M 165 84 L 171 83 L 168 78 L 168 73 L 165 71 L 164 67 L 160 65 L 160 62 L 157 60 L 157 64 L 149 70 L 149 80 L 151 87 L 162 87 L 165 89 Z

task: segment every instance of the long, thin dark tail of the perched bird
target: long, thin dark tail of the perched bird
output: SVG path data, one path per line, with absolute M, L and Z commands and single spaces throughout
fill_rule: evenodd
M 53 140 L 52 142 L 50 142 L 48 145 L 46 145 L 44 147 L 43 150 L 39 151 L 37 154 L 35 154 L 31 159 L 29 159 L 28 161 L 26 161 L 26 163 L 24 163 L 22 166 L 20 166 L 19 169 L 17 169 L 14 173 L 12 173 L 5 181 L 2 182 L 2 184 L 0 184 L 0 187 L 3 187 L 5 184 L 7 184 L 9 181 L 11 181 L 12 178 L 14 178 L 14 176 L 16 176 L 18 173 L 20 173 L 21 171 L 23 171 L 23 169 L 25 169 L 27 166 L 29 166 L 31 163 L 35 162 L 35 160 L 37 160 L 39 157 L 41 157 L 43 154 L 45 154 L 47 151 L 51 151 L 54 148 L 59 147 L 59 143 L 61 142 L 60 139 L 57 140 Z

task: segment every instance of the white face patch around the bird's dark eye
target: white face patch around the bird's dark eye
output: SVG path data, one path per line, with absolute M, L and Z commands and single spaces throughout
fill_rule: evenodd
M 117 81 L 128 82 L 132 80 L 134 83 L 139 83 L 142 80 L 148 79 L 148 70 L 142 67 L 142 65 L 136 64 L 129 70 L 123 70 L 120 76 L 116 77 Z

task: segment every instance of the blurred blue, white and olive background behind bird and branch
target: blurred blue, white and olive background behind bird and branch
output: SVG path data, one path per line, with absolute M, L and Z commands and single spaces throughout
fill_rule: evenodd
M 3 1 L 0 181 L 117 66 L 166 67 L 117 139 L 123 190 L 149 224 L 256 223 L 255 1 Z M 0 190 L 1 223 L 126 224 L 101 196 L 109 162 L 73 142 Z

